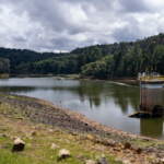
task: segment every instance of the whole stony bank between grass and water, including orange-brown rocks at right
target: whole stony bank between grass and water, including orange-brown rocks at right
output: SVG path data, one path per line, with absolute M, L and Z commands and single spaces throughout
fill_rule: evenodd
M 103 126 L 44 99 L 0 93 L 0 115 L 8 119 L 50 126 L 51 132 L 57 132 L 57 127 L 61 133 L 65 131 L 74 137 L 77 142 L 89 140 L 91 145 L 99 144 L 96 145 L 97 151 L 106 150 L 116 156 L 118 163 L 164 163 L 163 141 Z

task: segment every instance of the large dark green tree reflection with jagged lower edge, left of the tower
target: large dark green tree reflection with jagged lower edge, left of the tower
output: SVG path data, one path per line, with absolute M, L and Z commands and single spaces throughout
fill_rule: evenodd
M 90 101 L 90 107 L 92 104 L 96 107 L 101 105 L 101 98 L 104 98 L 106 103 L 109 97 L 113 97 L 115 104 L 119 105 L 122 113 L 128 112 L 128 105 L 131 104 L 134 110 L 139 108 L 139 87 L 129 87 L 118 84 L 108 84 L 105 82 L 93 82 L 93 81 L 80 81 L 80 85 L 75 86 L 57 86 L 52 87 L 59 91 L 70 91 L 78 94 L 81 101 L 86 96 Z M 132 91 L 131 91 L 132 90 Z M 136 90 L 136 91 L 133 91 Z M 109 95 L 109 93 L 112 93 Z M 95 98 L 93 97 L 95 95 Z M 104 96 L 101 96 L 104 95 Z

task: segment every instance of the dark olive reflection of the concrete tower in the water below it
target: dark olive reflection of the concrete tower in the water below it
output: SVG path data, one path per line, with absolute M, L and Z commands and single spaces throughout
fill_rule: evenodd
M 140 119 L 141 134 L 147 137 L 161 137 L 163 133 L 163 117 Z

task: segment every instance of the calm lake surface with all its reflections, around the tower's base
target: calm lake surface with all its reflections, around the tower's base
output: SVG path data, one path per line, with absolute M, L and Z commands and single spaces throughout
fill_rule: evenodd
M 56 78 L 11 78 L 0 80 L 0 92 L 47 99 L 109 127 L 133 134 L 164 138 L 164 117 L 151 119 L 125 117 L 138 110 L 140 101 L 138 86 Z

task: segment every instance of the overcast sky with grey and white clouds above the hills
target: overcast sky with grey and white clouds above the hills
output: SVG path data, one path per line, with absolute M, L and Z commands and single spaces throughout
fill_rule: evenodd
M 0 0 L 0 47 L 70 51 L 159 33 L 163 0 Z

